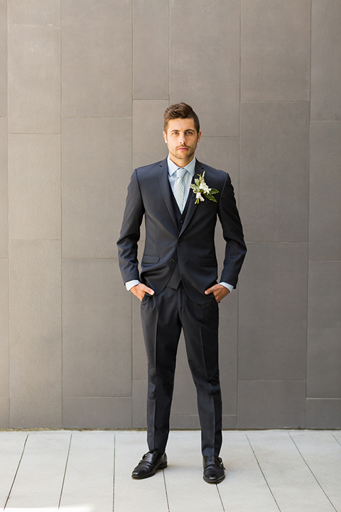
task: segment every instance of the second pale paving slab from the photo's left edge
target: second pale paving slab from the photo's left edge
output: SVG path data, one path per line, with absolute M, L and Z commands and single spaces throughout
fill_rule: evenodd
M 58 511 L 69 445 L 69 432 L 28 434 L 6 510 L 48 507 Z

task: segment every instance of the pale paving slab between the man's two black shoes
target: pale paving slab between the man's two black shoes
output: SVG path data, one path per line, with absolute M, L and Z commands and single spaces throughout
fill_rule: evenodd
M 224 511 L 217 486 L 202 479 L 201 440 L 198 431 L 173 431 L 164 470 L 171 512 Z

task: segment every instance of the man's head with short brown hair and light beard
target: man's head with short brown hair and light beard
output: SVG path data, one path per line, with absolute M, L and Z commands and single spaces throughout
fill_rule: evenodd
M 171 160 L 179 167 L 185 167 L 194 158 L 200 141 L 200 124 L 192 107 L 177 103 L 166 109 L 163 138 L 168 146 Z

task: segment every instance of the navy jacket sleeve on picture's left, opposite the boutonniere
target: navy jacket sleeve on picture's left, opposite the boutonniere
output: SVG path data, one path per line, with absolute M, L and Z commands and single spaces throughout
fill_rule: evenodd
M 136 170 L 131 176 L 126 196 L 123 222 L 119 240 L 119 268 L 124 282 L 139 278 L 139 262 L 137 260 L 137 242 L 140 239 L 140 227 L 144 217 L 144 203 L 141 197 L 139 180 Z

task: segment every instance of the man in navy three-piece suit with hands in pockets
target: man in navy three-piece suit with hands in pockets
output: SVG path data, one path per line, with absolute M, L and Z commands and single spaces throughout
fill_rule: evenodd
M 166 468 L 166 443 L 173 395 L 175 358 L 181 329 L 197 390 L 202 431 L 204 480 L 224 479 L 222 399 L 218 368 L 218 303 L 237 285 L 246 254 L 242 224 L 229 175 L 195 159 L 199 119 L 181 102 L 164 113 L 167 159 L 134 171 L 117 242 L 121 274 L 141 301 L 148 359 L 147 441 L 132 476 L 153 476 Z M 137 260 L 145 217 L 146 242 Z M 217 283 L 215 225 L 226 242 Z

